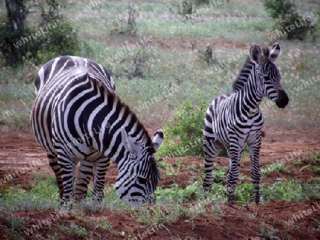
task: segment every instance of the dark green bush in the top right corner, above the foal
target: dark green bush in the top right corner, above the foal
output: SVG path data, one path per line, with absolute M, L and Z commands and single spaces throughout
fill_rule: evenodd
M 288 40 L 304 40 L 311 30 L 311 21 L 298 11 L 297 4 L 290 0 L 265 0 L 265 9 L 277 21 L 277 27 L 282 29 Z M 298 24 L 298 25 L 297 25 Z M 290 29 L 291 26 L 294 29 Z

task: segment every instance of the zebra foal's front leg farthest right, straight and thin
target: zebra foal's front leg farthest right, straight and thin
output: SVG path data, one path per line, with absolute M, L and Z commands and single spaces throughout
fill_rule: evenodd
M 255 203 L 259 204 L 260 202 L 260 163 L 259 163 L 259 155 L 260 155 L 260 147 L 261 147 L 262 133 L 257 132 L 252 134 L 248 138 L 248 144 L 250 149 L 250 160 L 251 160 L 251 178 L 253 185 L 255 187 Z

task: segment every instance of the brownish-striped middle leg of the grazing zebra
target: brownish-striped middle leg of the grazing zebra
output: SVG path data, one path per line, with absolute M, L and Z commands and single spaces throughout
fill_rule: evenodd
M 78 181 L 75 185 L 75 200 L 79 201 L 87 196 L 87 185 L 90 182 L 93 165 L 90 161 L 82 160 L 79 166 Z

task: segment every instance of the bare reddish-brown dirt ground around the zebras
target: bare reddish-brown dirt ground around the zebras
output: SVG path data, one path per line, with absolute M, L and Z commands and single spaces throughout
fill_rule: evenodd
M 152 128 L 153 129 L 153 128 Z M 150 130 L 152 130 L 150 129 Z M 151 131 L 150 131 L 151 132 Z M 292 165 L 291 154 L 296 159 L 298 156 L 305 156 L 310 151 L 320 151 L 320 132 L 311 131 L 266 131 L 267 136 L 263 139 L 260 156 L 260 164 L 263 166 L 274 163 L 277 160 L 284 159 L 285 165 L 290 173 L 274 172 L 265 178 L 263 183 L 270 183 L 277 178 L 297 178 L 299 180 L 309 180 L 319 175 L 314 174 L 310 168 L 301 170 L 301 165 Z M 287 158 L 286 158 L 287 156 Z M 289 160 L 288 160 L 289 158 Z M 181 161 L 181 169 L 175 175 L 164 175 L 164 169 L 161 169 L 162 187 L 170 187 L 176 182 L 181 187 L 186 187 L 191 182 L 198 179 L 202 172 L 200 165 L 203 158 L 169 158 L 164 159 L 167 163 L 176 168 L 176 161 Z M 196 165 L 196 170 L 188 170 L 188 166 Z M 217 166 L 227 166 L 227 158 L 218 158 Z M 11 173 L 13 180 L 8 180 L 7 176 Z M 33 182 L 33 173 L 50 174 L 46 160 L 46 153 L 41 146 L 34 140 L 31 133 L 1 133 L 0 134 L 0 180 L 1 188 L 17 186 L 28 189 Z M 250 178 L 250 160 L 242 159 L 240 163 L 240 173 Z M 114 165 L 107 171 L 106 182 L 113 184 L 117 178 L 117 169 Z M 5 180 L 5 182 L 4 182 Z M 1 198 L 0 198 L 1 201 Z M 286 226 L 285 220 L 298 217 L 303 210 L 313 209 L 311 214 L 297 220 L 293 225 Z M 260 238 L 261 224 L 264 223 L 265 229 L 277 229 L 276 236 L 282 236 L 282 239 L 320 239 L 320 200 L 310 202 L 283 202 L 272 201 L 260 206 L 240 206 L 235 204 L 221 205 L 220 214 L 212 211 L 212 206 L 207 207 L 206 214 L 198 215 L 194 218 L 179 218 L 174 224 L 164 224 L 165 228 L 152 229 L 147 228 L 128 212 L 108 211 L 97 212 L 94 214 L 86 213 L 84 216 L 72 214 L 70 212 L 54 211 L 21 211 L 14 212 L 16 217 L 23 217 L 26 229 L 38 224 L 41 220 L 53 219 L 55 221 L 50 227 L 41 227 L 38 234 L 25 236 L 25 239 L 45 239 L 49 234 L 55 232 L 62 239 L 82 239 L 80 237 L 70 236 L 61 232 L 59 225 L 70 223 L 85 226 L 87 232 L 92 231 L 91 239 L 126 239 L 128 236 L 137 239 L 262 239 Z M 4 214 L 0 212 L 0 215 Z M 53 217 L 51 217 L 53 216 Z M 58 217 L 57 217 L 58 216 Z M 106 219 L 113 226 L 111 232 L 95 226 L 90 219 Z M 10 224 L 0 217 L 0 239 L 15 239 L 10 235 Z M 119 232 L 124 231 L 125 236 L 119 236 Z M 140 234 L 140 235 L 139 235 Z M 88 237 L 88 236 L 87 236 Z M 85 239 L 85 238 L 83 238 Z

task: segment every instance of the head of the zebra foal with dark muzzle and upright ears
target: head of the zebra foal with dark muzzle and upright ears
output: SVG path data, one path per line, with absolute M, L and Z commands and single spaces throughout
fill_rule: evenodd
M 284 108 L 289 102 L 289 97 L 281 85 L 281 75 L 274 64 L 279 58 L 281 48 L 279 43 L 274 43 L 270 52 L 269 48 L 263 48 L 263 54 L 258 45 L 253 44 L 250 48 L 250 58 L 255 63 L 256 69 L 260 72 L 262 87 L 265 97 L 277 104 L 277 107 Z

